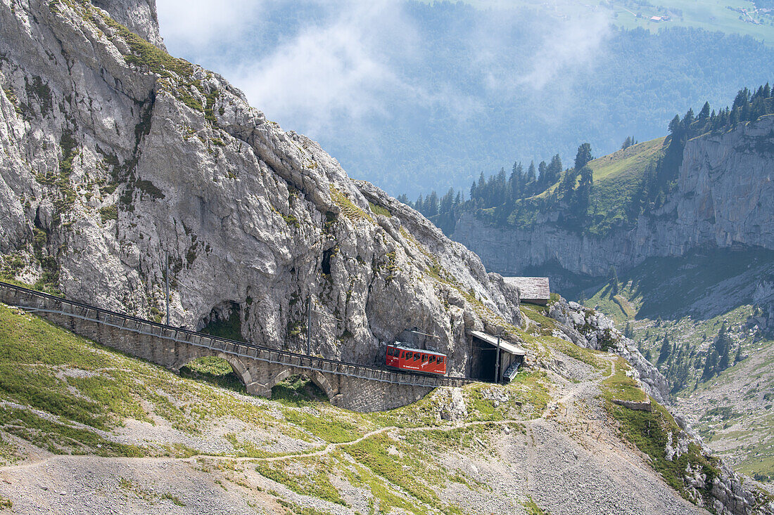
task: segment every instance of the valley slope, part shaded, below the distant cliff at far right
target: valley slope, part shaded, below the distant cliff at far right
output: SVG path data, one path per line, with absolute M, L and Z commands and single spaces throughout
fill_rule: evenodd
M 664 336 L 680 349 L 656 363 L 670 379 L 687 363 L 680 408 L 702 435 L 741 471 L 774 479 L 774 342 L 749 330 L 752 292 L 772 272 L 769 251 L 697 251 L 683 258 L 649 259 L 620 274 L 619 294 L 610 285 L 587 290 L 584 303 L 628 325 L 642 353 L 658 361 Z M 725 322 L 748 360 L 702 382 L 707 348 Z M 682 351 L 681 349 L 685 349 Z M 748 366 L 749 365 L 749 366 Z M 754 366 L 753 366 L 754 365 Z M 774 400 L 774 396 L 769 396 Z

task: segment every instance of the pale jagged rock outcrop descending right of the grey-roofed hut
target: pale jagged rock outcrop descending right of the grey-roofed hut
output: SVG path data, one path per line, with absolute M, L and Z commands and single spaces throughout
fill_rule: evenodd
M 637 344 L 615 328 L 615 322 L 594 309 L 559 298 L 549 307 L 549 315 L 560 322 L 562 335 L 580 347 L 608 350 L 622 356 L 637 372 L 636 379 L 651 397 L 661 403 L 669 397 L 670 387 L 659 369 L 639 352 Z

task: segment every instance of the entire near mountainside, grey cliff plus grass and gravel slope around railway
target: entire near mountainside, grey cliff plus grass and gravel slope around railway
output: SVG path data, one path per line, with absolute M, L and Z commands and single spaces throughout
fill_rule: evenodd
M 0 0 L 0 26 L 5 279 L 159 320 L 168 282 L 173 324 L 289 350 L 306 348 L 308 309 L 312 353 L 372 363 L 415 339 L 453 374 L 468 329 L 505 329 L 536 365 L 508 386 L 354 414 L 293 384 L 274 401 L 224 392 L 0 306 L 0 473 L 14 486 L 0 506 L 539 513 L 534 496 L 551 513 L 772 513 L 651 403 L 663 376 L 609 320 L 563 301 L 522 315 L 471 251 L 168 55 L 150 0 Z M 190 364 L 199 379 L 217 367 Z

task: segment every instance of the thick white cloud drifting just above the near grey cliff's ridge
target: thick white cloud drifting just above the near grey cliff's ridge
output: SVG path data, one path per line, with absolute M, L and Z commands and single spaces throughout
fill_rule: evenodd
M 322 25 L 303 27 L 270 55 L 228 73 L 251 104 L 314 135 L 337 121 L 389 116 L 392 101 L 426 102 L 394 70 L 412 58 L 415 43 L 399 3 L 337 2 L 334 9 Z

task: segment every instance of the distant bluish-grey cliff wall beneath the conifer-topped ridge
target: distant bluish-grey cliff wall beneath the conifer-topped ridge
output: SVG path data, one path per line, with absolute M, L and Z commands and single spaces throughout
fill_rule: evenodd
M 639 217 L 634 229 L 588 237 L 550 220 L 539 230 L 488 227 L 471 213 L 457 223 L 454 240 L 488 267 L 519 273 L 558 265 L 591 276 L 613 265 L 632 268 L 647 257 L 680 256 L 702 246 L 774 248 L 774 116 L 723 135 L 687 143 L 676 189 L 666 204 Z

